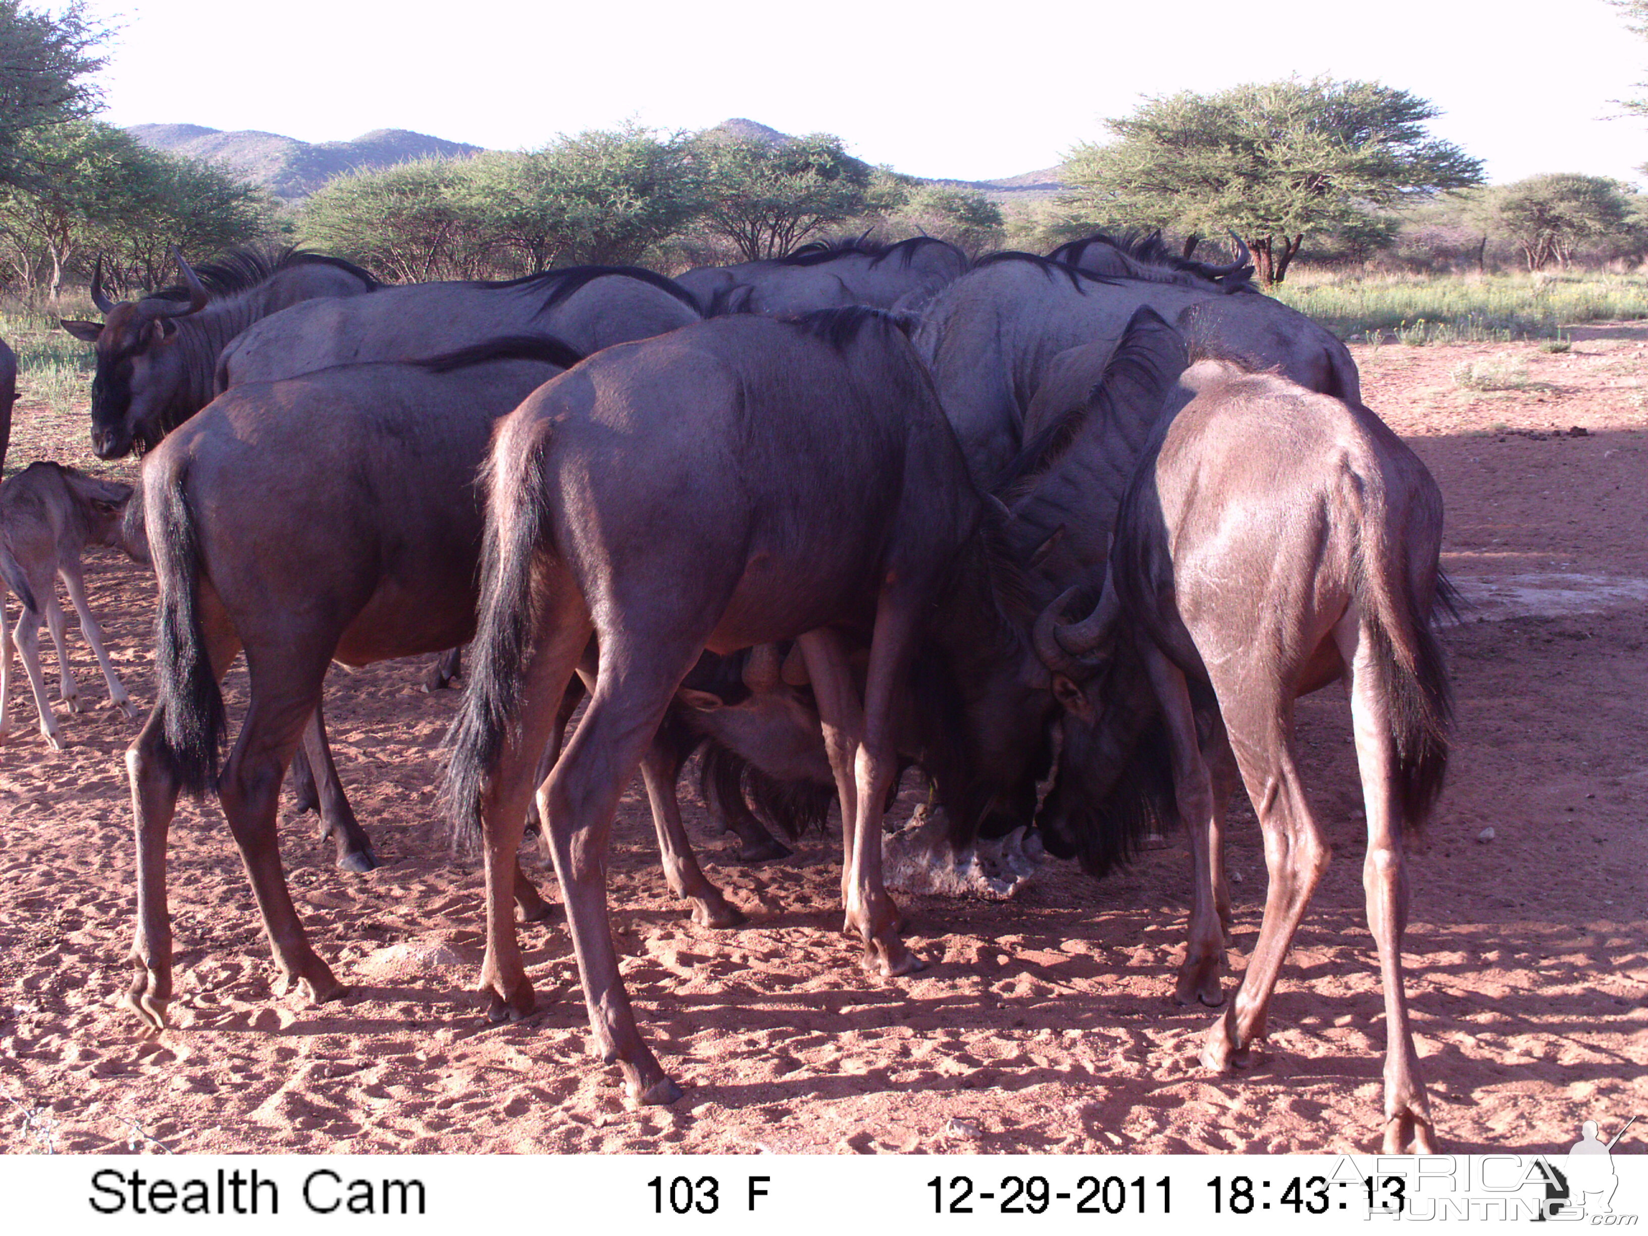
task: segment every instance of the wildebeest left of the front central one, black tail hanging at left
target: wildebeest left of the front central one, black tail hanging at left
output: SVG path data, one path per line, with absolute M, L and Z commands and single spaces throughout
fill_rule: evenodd
M 216 788 L 282 974 L 318 1000 L 343 994 L 303 934 L 275 850 L 285 761 L 331 659 L 368 664 L 468 638 L 481 539 L 473 481 L 493 420 L 575 361 L 555 339 L 506 338 L 425 363 L 249 382 L 145 458 L 143 514 L 160 585 L 158 691 L 127 758 L 138 923 L 125 1004 L 148 1025 L 163 1025 L 171 995 L 165 849 L 180 789 Z M 219 778 L 218 679 L 239 649 L 250 704 Z M 664 872 L 707 926 L 732 926 L 742 915 L 692 857 L 674 799 L 682 760 L 707 737 L 750 745 L 775 775 L 812 768 L 804 751 L 788 765 L 775 760 L 766 735 L 794 733 L 799 704 L 758 662 L 695 669 L 676 709 L 684 715 L 672 719 L 677 733 L 649 753 Z M 527 920 L 549 915 L 519 872 L 514 898 Z

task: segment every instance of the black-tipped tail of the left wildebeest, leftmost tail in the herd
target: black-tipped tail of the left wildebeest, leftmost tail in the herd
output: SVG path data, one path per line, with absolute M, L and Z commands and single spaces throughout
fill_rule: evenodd
M 178 786 L 201 798 L 218 783 L 226 722 L 201 625 L 199 537 L 181 470 L 162 473 L 143 488 L 148 549 L 160 585 L 155 672 L 166 710 L 163 750 Z

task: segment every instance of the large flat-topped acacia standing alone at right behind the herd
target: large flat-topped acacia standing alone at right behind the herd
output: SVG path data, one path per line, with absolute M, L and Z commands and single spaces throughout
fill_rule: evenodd
M 1147 99 L 1076 147 L 1066 211 L 1098 226 L 1234 231 L 1280 283 L 1305 237 L 1365 231 L 1416 196 L 1482 183 L 1482 163 L 1426 133 L 1437 109 L 1379 82 L 1297 77 Z

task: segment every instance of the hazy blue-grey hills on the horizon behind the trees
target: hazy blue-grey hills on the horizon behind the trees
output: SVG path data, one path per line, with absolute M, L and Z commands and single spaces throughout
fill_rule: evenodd
M 363 133 L 353 142 L 298 142 L 295 137 L 241 129 L 226 133 L 204 125 L 130 125 L 127 132 L 147 147 L 190 155 L 226 166 L 242 180 L 262 185 L 277 198 L 297 201 L 307 198 L 333 176 L 346 171 L 376 170 L 405 163 L 414 158 L 443 157 L 468 158 L 481 153 L 481 147 L 465 142 L 448 142 L 409 129 L 379 129 Z M 704 130 L 705 135 L 756 138 L 761 142 L 788 142 L 771 125 L 742 115 L 722 120 Z M 1051 198 L 1065 190 L 1063 168 L 1023 171 L 1000 180 L 931 180 L 931 185 L 976 190 L 1000 203 L 1033 203 Z

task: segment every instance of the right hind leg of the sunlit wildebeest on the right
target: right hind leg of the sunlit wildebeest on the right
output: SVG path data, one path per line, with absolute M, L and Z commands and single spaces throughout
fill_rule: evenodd
M 1384 984 L 1384 1154 L 1435 1154 L 1430 1101 L 1419 1076 L 1419 1055 L 1402 984 L 1402 933 L 1407 929 L 1407 873 L 1402 862 L 1402 809 L 1398 756 L 1391 738 L 1391 700 L 1384 667 L 1373 654 L 1356 606 L 1335 630 L 1350 666 L 1351 732 L 1368 812 L 1368 857 L 1361 868 L 1368 929 L 1379 948 Z

